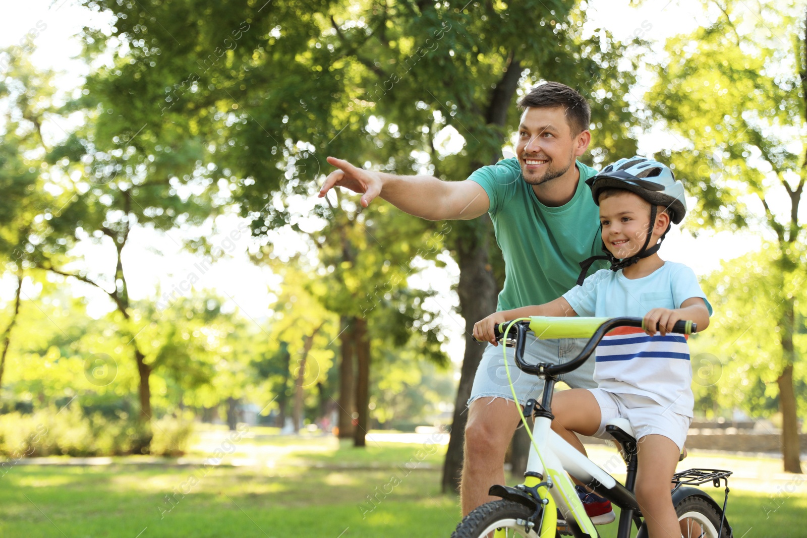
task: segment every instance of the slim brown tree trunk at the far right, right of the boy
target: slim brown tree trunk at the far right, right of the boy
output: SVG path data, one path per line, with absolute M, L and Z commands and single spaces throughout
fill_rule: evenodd
M 782 351 L 785 366 L 776 379 L 779 386 L 779 410 L 782 412 L 782 460 L 786 473 L 801 473 L 801 447 L 799 446 L 798 417 L 796 415 L 796 392 L 793 390 L 793 362 L 796 353 L 793 348 L 793 300 L 784 306 L 784 316 L 780 322 L 782 329 Z

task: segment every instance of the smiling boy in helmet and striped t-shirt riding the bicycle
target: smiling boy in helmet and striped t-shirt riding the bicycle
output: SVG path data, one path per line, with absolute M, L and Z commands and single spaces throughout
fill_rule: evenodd
M 495 344 L 495 324 L 531 315 L 643 316 L 648 336 L 617 330 L 598 346 L 598 388 L 555 395 L 552 427 L 584 453 L 573 432 L 603 436 L 609 419 L 629 419 L 638 440 L 636 497 L 650 536 L 680 536 L 670 482 L 694 399 L 686 340 L 667 332 L 681 319 L 702 331 L 712 311 L 692 269 L 657 253 L 671 222 L 684 219 L 684 187 L 667 166 L 642 157 L 621 159 L 586 182 L 600 206 L 601 257 L 611 262 L 610 270 L 597 271 L 552 302 L 489 315 L 476 323 L 474 336 Z M 581 281 L 587 262 L 580 264 Z

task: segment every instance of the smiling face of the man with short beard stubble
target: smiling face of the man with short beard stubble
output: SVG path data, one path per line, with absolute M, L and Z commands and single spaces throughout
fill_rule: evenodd
M 561 106 L 528 108 L 521 115 L 516 155 L 521 173 L 530 185 L 541 185 L 560 177 L 575 164 L 579 135 L 573 136 Z M 585 144 L 587 146 L 587 144 Z

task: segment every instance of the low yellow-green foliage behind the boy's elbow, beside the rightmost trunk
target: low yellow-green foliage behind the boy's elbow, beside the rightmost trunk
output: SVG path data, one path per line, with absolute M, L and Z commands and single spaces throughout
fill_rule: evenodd
M 715 315 L 708 331 L 692 344 L 695 366 L 703 359 L 709 369 L 703 375 L 695 373 L 693 388 L 697 402 L 709 411 L 739 407 L 750 416 L 770 416 L 778 410 L 776 379 L 789 360 L 779 321 L 788 306 L 783 298 L 797 297 L 807 281 L 804 264 L 787 271 L 778 263 L 780 258 L 776 244 L 766 243 L 762 251 L 726 261 L 701 281 Z M 807 312 L 802 304 L 797 302 L 793 334 L 799 356 L 807 352 Z M 803 361 L 797 362 L 793 376 L 797 387 L 805 386 Z M 803 390 L 796 394 L 803 416 L 807 398 Z

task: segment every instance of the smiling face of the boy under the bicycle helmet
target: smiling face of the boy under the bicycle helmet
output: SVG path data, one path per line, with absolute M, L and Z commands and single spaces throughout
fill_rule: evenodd
M 600 198 L 600 224 L 603 243 L 609 252 L 620 259 L 633 256 L 645 244 L 650 203 L 627 190 Z M 651 238 L 647 246 L 654 244 Z

